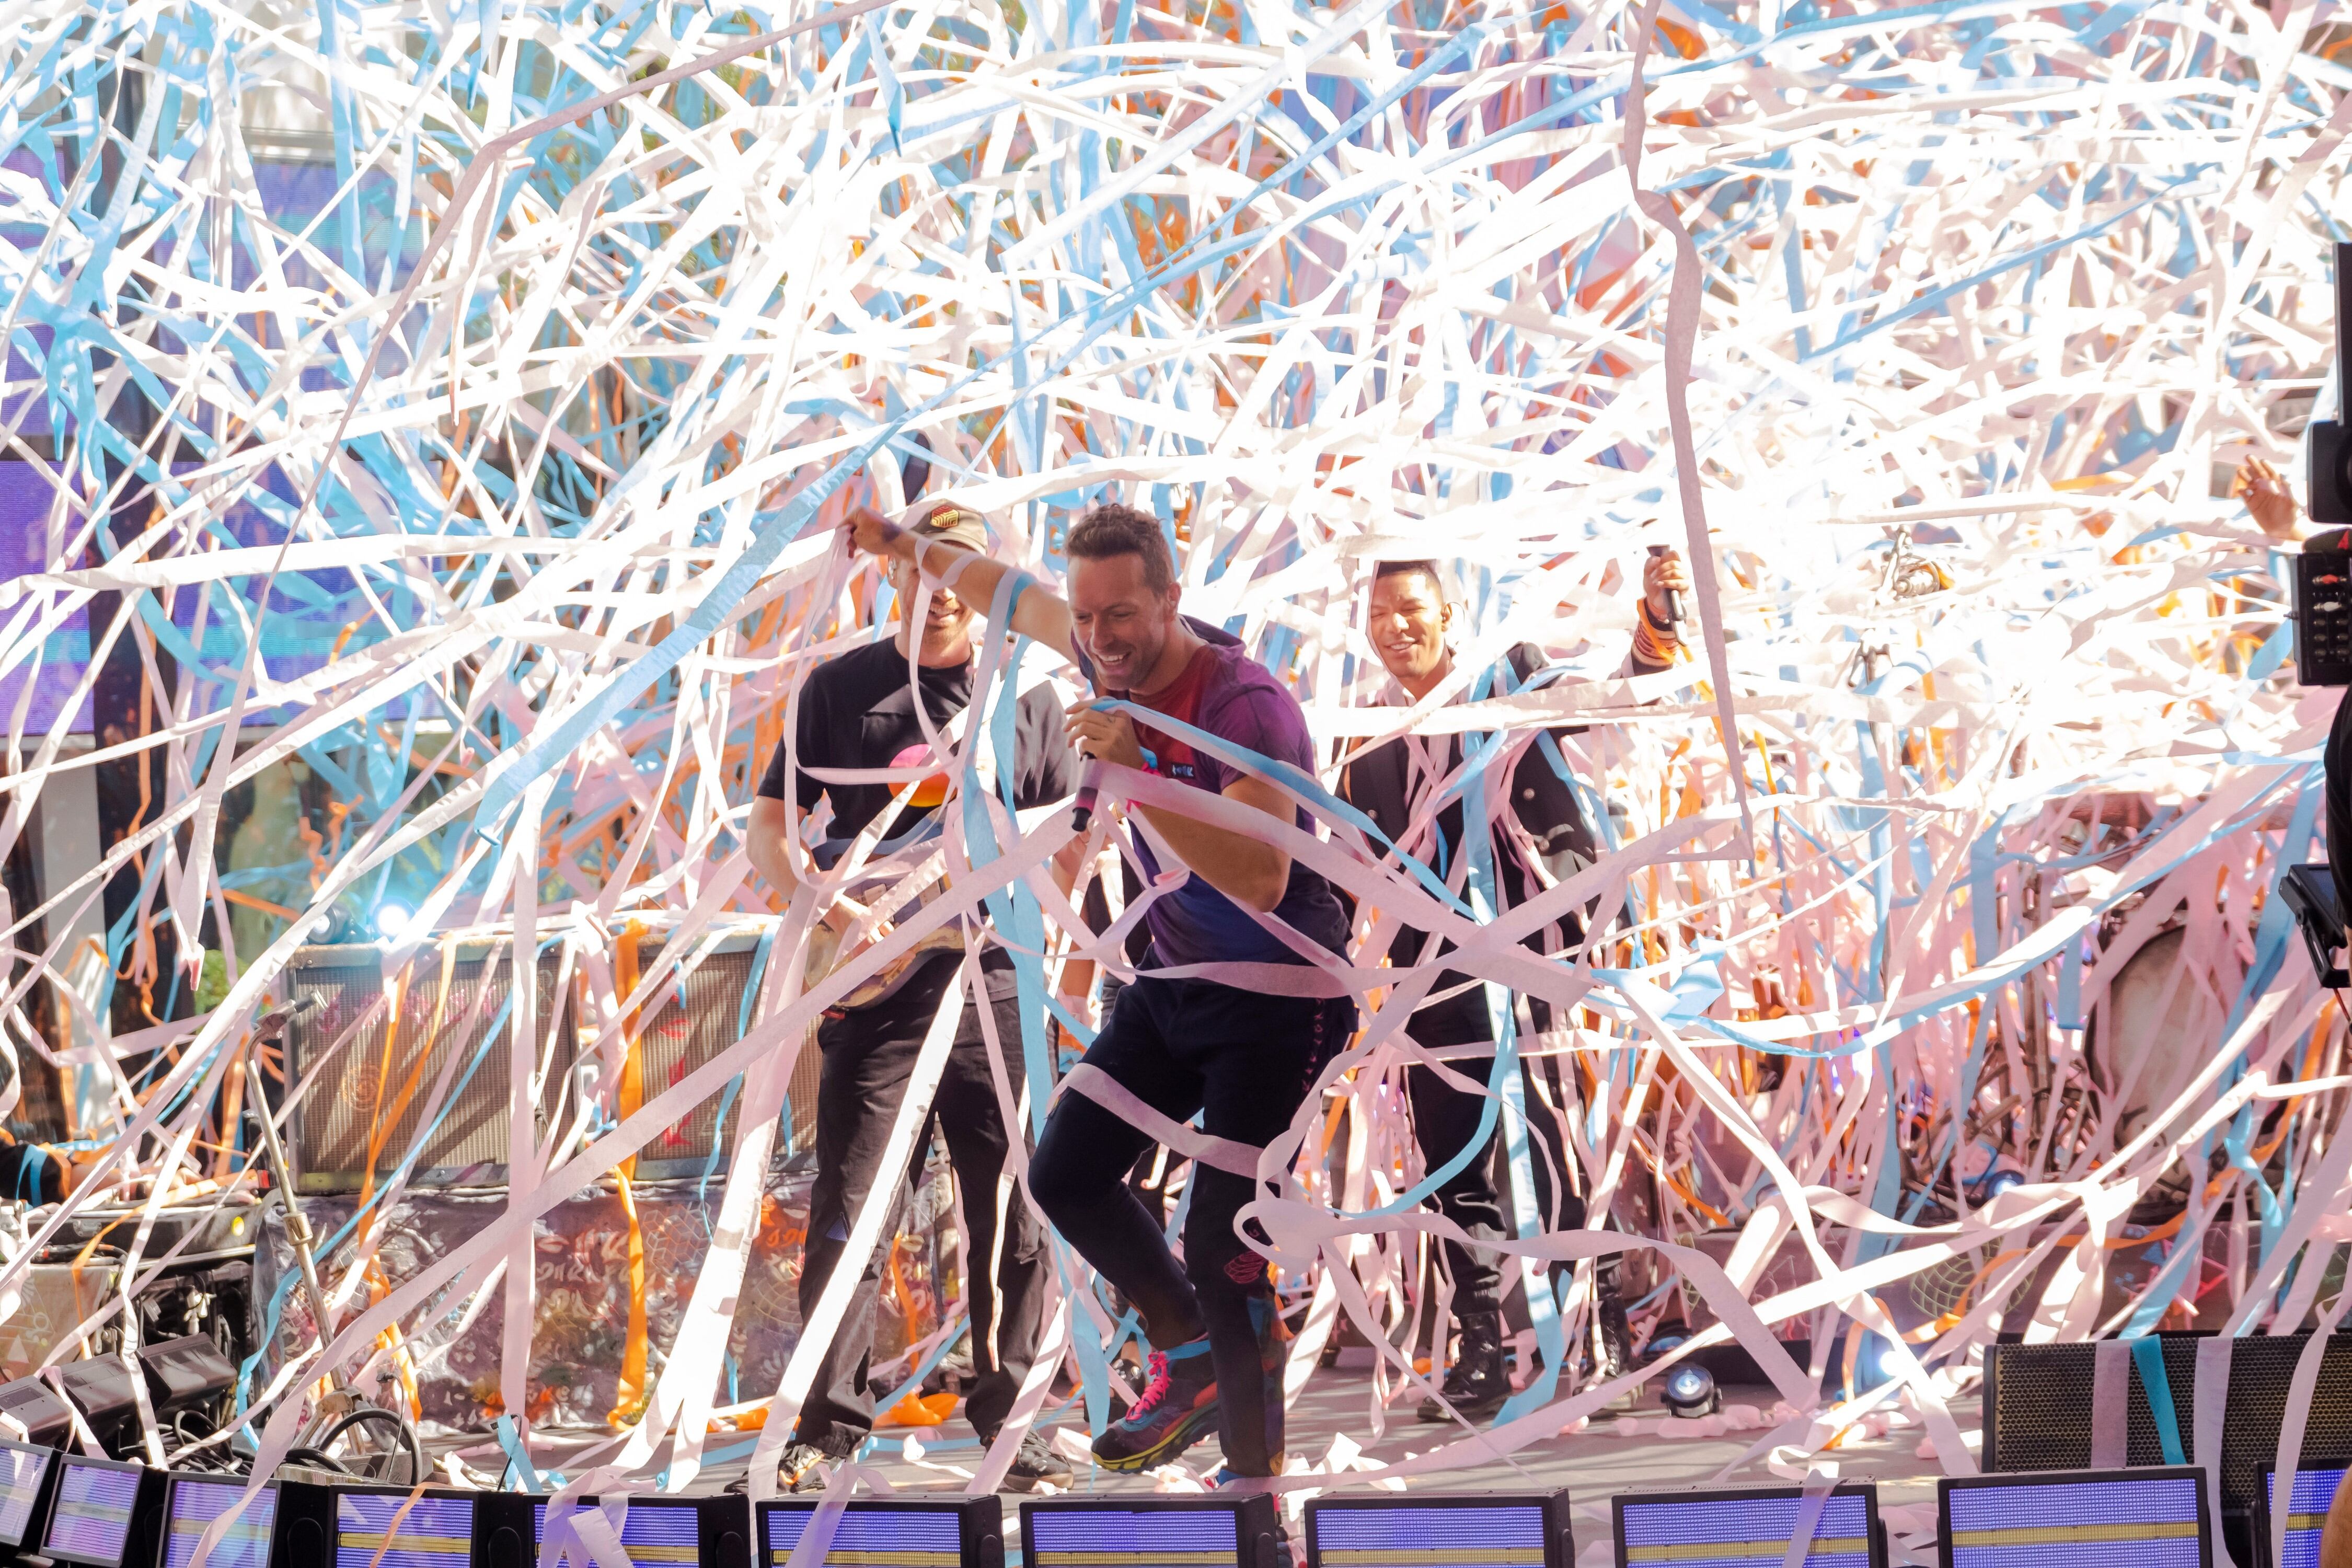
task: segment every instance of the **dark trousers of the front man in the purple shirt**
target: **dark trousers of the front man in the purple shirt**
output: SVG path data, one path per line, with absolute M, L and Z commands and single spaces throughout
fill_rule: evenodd
M 1202 1117 L 1211 1138 L 1268 1145 L 1291 1124 L 1315 1077 L 1355 1032 L 1350 997 L 1263 997 L 1214 980 L 1138 976 L 1087 1051 L 1138 1100 L 1174 1121 Z M 1112 1112 L 1063 1093 L 1030 1161 L 1030 1192 L 1070 1246 L 1143 1314 L 1157 1349 L 1209 1335 L 1216 1366 L 1218 1441 L 1237 1474 L 1268 1476 L 1282 1453 L 1279 1328 L 1265 1258 L 1235 1234 L 1232 1218 L 1256 1197 L 1247 1175 L 1192 1164 L 1183 1262 L 1162 1218 L 1127 1185 L 1152 1145 Z M 1270 1368 L 1261 1333 L 1272 1347 Z

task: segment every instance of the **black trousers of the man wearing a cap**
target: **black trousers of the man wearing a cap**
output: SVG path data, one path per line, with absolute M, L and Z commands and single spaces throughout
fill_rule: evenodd
M 948 969 L 934 959 L 936 969 Z M 957 980 L 962 983 L 962 980 Z M 1009 1140 L 997 1110 L 995 1079 L 988 1072 L 988 1044 L 981 1016 L 967 1004 L 948 1067 L 931 1100 L 931 1117 L 915 1138 L 915 1159 L 906 1171 L 882 1171 L 882 1147 L 906 1098 L 908 1077 L 922 1037 L 938 1016 L 938 985 L 917 978 L 896 997 L 870 1009 L 828 1018 L 816 1030 L 823 1072 L 816 1081 L 816 1190 L 809 1194 L 809 1241 L 802 1253 L 800 1312 L 807 1319 L 816 1298 L 849 1241 L 849 1227 L 866 1192 L 877 1182 L 896 1182 L 891 1213 L 882 1227 L 884 1241 L 873 1251 L 858 1288 L 849 1298 L 842 1326 L 816 1366 L 809 1399 L 800 1408 L 795 1436 L 847 1453 L 875 1425 L 875 1389 L 868 1385 L 873 1361 L 875 1302 L 882 1293 L 882 1269 L 889 1262 L 887 1237 L 906 1215 L 908 1187 L 931 1150 L 931 1133 L 948 1140 L 948 1161 L 964 1199 L 964 1248 L 971 1279 L 964 1281 L 964 1305 L 971 1314 L 971 1371 L 978 1373 L 964 1413 L 981 1436 L 995 1436 L 1021 1392 L 1021 1380 L 1037 1359 L 1044 1328 L 1044 1298 L 1051 1260 L 1044 1229 L 1021 1199 L 1021 1187 L 1007 1168 Z M 988 1004 L 995 1013 L 997 1044 L 1004 1051 L 1004 1074 L 1021 1093 L 1021 1004 L 1002 997 Z

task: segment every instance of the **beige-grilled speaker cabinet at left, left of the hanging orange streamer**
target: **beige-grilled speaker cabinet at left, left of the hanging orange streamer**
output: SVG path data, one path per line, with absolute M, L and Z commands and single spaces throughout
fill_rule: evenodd
M 287 966 L 294 1001 L 315 999 L 287 1027 L 287 1081 L 301 1086 L 289 1152 L 301 1192 L 358 1192 L 367 1175 L 369 1138 L 393 1117 L 376 1152 L 381 1185 L 423 1147 L 409 1168 L 412 1187 L 499 1187 L 508 1168 L 513 1048 L 513 938 L 454 943 L 449 997 L 440 1001 L 440 945 L 416 952 L 400 1016 L 386 1018 L 383 950 L 372 943 L 301 947 Z M 560 1084 L 579 1051 L 579 1009 L 560 940 L 539 954 L 536 1041 L 532 1070 Z M 435 1001 L 440 1006 L 435 1009 Z M 365 1020 L 365 1023 L 362 1023 Z M 360 1025 L 360 1027 L 353 1027 Z M 350 1039 L 343 1039 L 350 1034 Z M 343 1041 L 336 1051 L 336 1041 Z M 449 1095 L 426 1121 L 426 1103 L 442 1067 L 456 1063 Z M 550 1095 L 534 1107 L 534 1138 L 546 1138 Z

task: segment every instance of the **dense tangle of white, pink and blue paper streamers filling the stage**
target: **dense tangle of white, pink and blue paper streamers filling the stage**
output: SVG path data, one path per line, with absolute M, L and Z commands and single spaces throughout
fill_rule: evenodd
M 235 1185 L 256 1016 L 320 922 L 388 900 L 416 985 L 459 931 L 576 938 L 583 1048 L 614 1063 L 701 936 L 764 917 L 793 959 L 809 907 L 746 879 L 753 780 L 809 663 L 891 616 L 837 524 L 903 503 L 920 435 L 934 487 L 1049 578 L 1084 505 L 1155 510 L 1185 609 L 1298 691 L 1324 785 L 1404 729 L 1576 731 L 1609 856 L 1548 898 L 1628 912 L 1571 954 L 1376 870 L 1294 790 L 1322 827 L 1287 846 L 1359 900 L 1327 976 L 1367 1006 L 1256 1213 L 1305 1305 L 1291 1392 L 1352 1321 L 1383 1347 L 1378 1432 L 1442 1359 L 1418 1302 L 1444 1227 L 1390 1213 L 1425 1175 L 1390 999 L 1432 976 L 1381 957 L 1399 922 L 1439 929 L 1449 964 L 1559 1004 L 1526 1044 L 1559 1103 L 1529 1114 L 1564 1121 L 1613 1225 L 1512 1251 L 1625 1251 L 1637 1331 L 1691 1338 L 1364 1476 L 1541 1441 L 1726 1338 L 1785 1399 L 1771 1465 L 1900 1410 L 1966 1472 L 1947 1403 L 1999 1328 L 2296 1328 L 2352 1239 L 2343 1025 L 2270 896 L 2317 853 L 2331 710 L 2218 480 L 2284 465 L 2326 397 L 2333 16 L 16 0 L 0 414 L 35 503 L 0 590 L 0 849 L 68 769 L 160 788 L 7 914 L 0 1098 L 35 1058 L 78 1074 L 103 1147 L 66 1211 Z M 1703 637 L 1618 679 L 1653 543 L 1693 557 Z M 1569 679 L 1392 705 L 1371 564 L 1428 555 L 1468 602 L 1463 668 L 1538 642 Z M 68 748 L 108 668 L 136 701 Z M 1011 686 L 985 675 L 981 710 Z M 327 797 L 306 844 L 233 865 L 223 802 L 289 764 Z M 990 924 L 1033 983 L 1117 969 L 1044 877 L 1068 832 L 974 806 L 927 919 Z M 35 940 L 108 877 L 136 891 L 103 964 Z M 616 980 L 602 954 L 656 912 L 666 961 Z M 174 1001 L 207 950 L 205 1006 Z M 501 1218 L 416 1276 L 369 1284 L 362 1232 L 329 1361 L 430 1347 L 503 1293 L 520 1410 L 532 1220 L 741 1093 L 689 1307 L 724 1324 L 762 1119 L 854 971 L 774 964 L 736 1046 L 550 1126 Z M 139 1018 L 115 992 L 153 1025 L 78 1053 L 31 1025 L 40 997 Z M 548 1020 L 517 994 L 513 1027 Z M 1042 1117 L 1054 1041 L 1025 1044 L 1009 1091 Z M 1115 1302 L 1073 1255 L 1063 1279 L 1054 1359 L 1101 1425 Z M 1588 1302 L 1581 1267 L 1571 1333 Z M 612 1474 L 694 1474 L 713 1338 L 642 1368 Z M 289 1387 L 247 1410 L 263 1460 Z

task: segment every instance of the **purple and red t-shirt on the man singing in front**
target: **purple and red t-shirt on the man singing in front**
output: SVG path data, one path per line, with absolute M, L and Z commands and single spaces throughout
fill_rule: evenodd
M 1277 682 L 1265 665 L 1242 651 L 1242 642 L 1230 632 L 1204 625 L 1185 616 L 1185 625 L 1200 637 L 1204 649 L 1192 654 L 1192 663 L 1167 691 L 1155 691 L 1150 701 L 1129 698 L 1138 708 L 1155 708 L 1218 741 L 1244 745 L 1272 762 L 1289 762 L 1303 773 L 1315 773 L 1315 743 L 1308 736 L 1308 715 L 1289 686 Z M 1077 668 L 1094 684 L 1094 663 L 1077 649 Z M 1178 736 L 1148 724 L 1136 726 L 1143 745 L 1160 759 L 1167 778 L 1188 783 L 1195 790 L 1225 792 L 1240 771 L 1221 757 L 1195 752 Z M 1312 830 L 1312 818 L 1301 809 L 1298 825 Z M 1143 856 L 1143 872 L 1160 875 L 1150 846 L 1136 837 Z M 1275 917 L 1298 936 L 1338 952 L 1348 943 L 1348 914 L 1341 910 L 1331 884 L 1301 860 L 1291 860 L 1291 882 L 1275 905 Z M 1152 969 L 1178 964 L 1303 964 L 1279 936 L 1258 919 L 1209 886 L 1207 877 L 1190 877 L 1174 893 L 1152 900 L 1143 912 L 1152 933 Z

